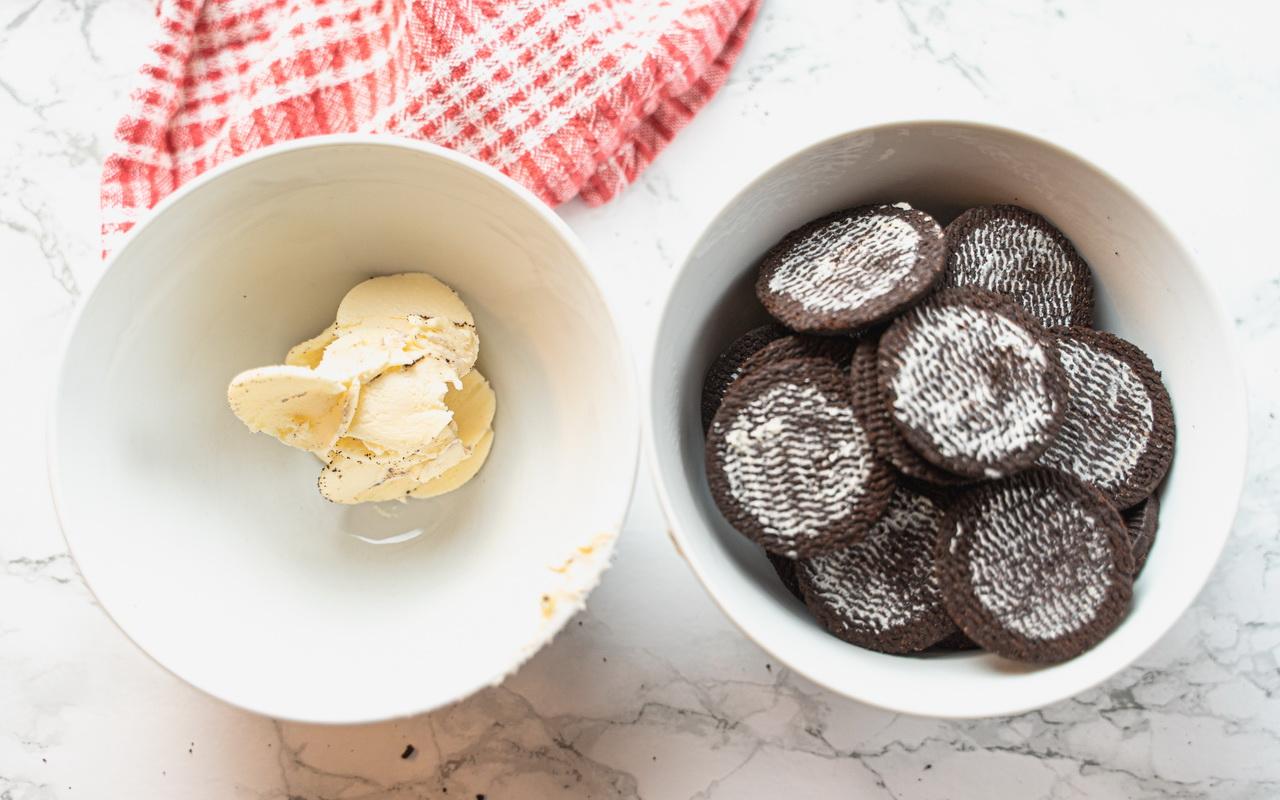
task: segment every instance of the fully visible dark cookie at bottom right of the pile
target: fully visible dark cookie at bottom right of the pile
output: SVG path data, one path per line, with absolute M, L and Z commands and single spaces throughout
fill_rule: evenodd
M 1056 663 L 1129 608 L 1133 552 L 1097 489 L 1044 468 L 969 490 L 947 511 L 934 568 L 951 618 L 1006 658 Z

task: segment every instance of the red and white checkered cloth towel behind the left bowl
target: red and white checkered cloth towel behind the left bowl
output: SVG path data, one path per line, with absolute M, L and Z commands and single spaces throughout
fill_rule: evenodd
M 242 152 L 398 133 L 548 204 L 613 197 L 724 83 L 759 0 L 159 0 L 163 35 L 102 174 L 110 251 Z

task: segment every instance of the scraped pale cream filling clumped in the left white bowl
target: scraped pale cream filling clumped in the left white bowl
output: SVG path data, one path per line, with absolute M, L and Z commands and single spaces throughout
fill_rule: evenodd
M 493 444 L 497 398 L 475 369 L 471 311 L 424 273 L 372 278 L 333 325 L 232 379 L 227 399 L 250 430 L 324 461 L 320 494 L 367 503 L 452 492 Z

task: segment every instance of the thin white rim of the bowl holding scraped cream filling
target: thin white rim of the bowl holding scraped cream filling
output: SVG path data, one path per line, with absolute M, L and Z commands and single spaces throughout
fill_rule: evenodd
M 613 303 L 609 301 L 608 294 L 605 294 L 600 288 L 599 280 L 599 268 L 595 261 L 588 253 L 585 244 L 577 237 L 576 233 L 568 227 L 568 224 L 556 212 L 556 210 L 543 202 L 532 191 L 515 179 L 507 177 L 497 168 L 479 161 L 466 154 L 458 152 L 456 150 L 449 150 L 431 142 L 424 142 L 404 136 L 397 134 L 381 134 L 381 133 L 332 133 L 324 136 L 310 136 L 297 140 L 289 140 L 285 142 L 278 142 L 275 145 L 269 145 L 250 152 L 242 154 L 233 159 L 228 159 L 216 166 L 201 173 L 200 175 L 192 178 L 187 183 L 179 186 L 177 189 L 166 195 L 155 206 L 143 212 L 138 221 L 131 228 L 122 238 L 113 253 L 106 259 L 102 265 L 101 273 L 90 287 L 90 291 L 79 300 L 72 316 L 63 330 L 61 342 L 58 347 L 56 356 L 56 369 L 54 370 L 54 379 L 50 388 L 47 389 L 46 399 L 46 415 L 45 415 L 45 472 L 49 481 L 49 494 L 54 507 L 54 516 L 58 521 L 58 529 L 63 538 L 63 543 L 67 545 L 67 552 L 76 564 L 76 572 L 79 575 L 81 582 L 88 589 L 93 598 L 95 604 L 101 609 L 101 612 L 110 620 L 111 625 L 124 635 L 124 637 L 143 655 L 147 657 L 154 664 L 159 666 L 161 669 L 174 676 L 187 686 L 191 686 L 204 695 L 207 695 L 220 703 L 225 703 L 233 708 L 246 710 L 253 714 L 261 714 L 265 717 L 271 717 L 274 719 L 280 719 L 285 722 L 296 722 L 303 724 L 371 724 L 378 722 L 387 722 L 390 719 L 404 719 L 408 717 L 425 714 L 434 712 L 440 708 L 452 705 L 470 698 L 475 692 L 483 690 L 486 686 L 495 686 L 503 680 L 515 675 L 524 664 L 526 664 L 535 654 L 538 654 L 543 648 L 548 646 L 556 636 L 564 628 L 572 614 L 563 616 L 554 626 L 549 627 L 541 641 L 535 648 L 524 648 L 518 657 L 511 663 L 503 664 L 492 673 L 486 673 L 481 680 L 476 681 L 475 685 L 467 690 L 465 694 L 429 705 L 415 704 L 412 707 L 406 707 L 394 713 L 378 713 L 378 714 L 352 714 L 342 718 L 324 717 L 324 716 L 310 716 L 300 714 L 294 712 L 282 712 L 275 708 L 256 708 L 252 705 L 246 705 L 230 698 L 224 698 L 223 695 L 212 691 L 211 689 L 196 684 L 183 675 L 179 675 L 172 669 L 168 664 L 161 662 L 159 658 L 151 654 L 151 652 L 142 646 L 142 644 L 134 639 L 134 636 L 116 620 L 115 614 L 111 613 L 110 608 L 102 603 L 97 591 L 93 589 L 88 576 L 79 568 L 79 562 L 76 558 L 76 548 L 72 545 L 72 538 L 68 532 L 67 513 L 64 509 L 64 503 L 67 503 L 67 489 L 63 486 L 60 480 L 60 466 L 58 457 L 58 430 L 60 428 L 60 413 L 59 413 L 59 399 L 64 394 L 64 387 L 67 381 L 67 360 L 70 353 L 72 344 L 76 340 L 77 332 L 79 330 L 81 320 L 93 302 L 99 289 L 105 283 L 108 275 L 116 265 L 122 261 L 124 255 L 129 251 L 134 239 L 137 239 L 141 233 L 152 225 L 160 216 L 163 216 L 172 206 L 180 202 L 188 195 L 200 191 L 205 186 L 214 183 L 215 180 L 236 172 L 242 168 L 256 164 L 257 161 L 273 159 L 280 155 L 285 155 L 301 150 L 320 150 L 325 147 L 347 147 L 347 146 L 374 146 L 374 147 L 387 147 L 390 150 L 410 150 L 420 155 L 443 159 L 452 164 L 465 168 L 476 177 L 486 179 L 490 183 L 497 184 L 499 188 L 504 189 L 507 193 L 515 196 L 521 205 L 531 209 L 550 229 L 556 236 L 563 242 L 563 244 L 573 253 L 573 257 L 581 264 L 582 270 L 586 275 L 590 291 L 595 294 L 599 301 L 600 307 L 604 308 L 605 317 L 609 323 L 607 335 L 612 340 L 614 351 L 618 353 L 621 360 L 620 367 L 623 374 L 623 397 L 630 398 L 627 403 L 630 408 L 616 408 L 614 411 L 623 415 L 625 419 L 622 424 L 630 428 L 630 435 L 622 435 L 622 440 L 626 442 L 628 453 L 623 456 L 623 474 L 626 476 L 626 492 L 623 493 L 622 506 L 617 512 L 616 521 L 612 525 L 614 536 L 609 543 L 609 552 L 607 558 L 600 559 L 600 566 L 594 580 L 585 586 L 582 594 L 582 603 L 585 607 L 586 598 L 594 591 L 604 573 L 613 566 L 613 558 L 617 548 L 617 538 L 622 535 L 623 524 L 631 509 L 631 503 L 635 497 L 635 484 L 636 476 L 640 467 L 640 453 L 641 448 L 641 415 L 640 415 L 640 397 L 637 389 L 637 370 L 635 362 L 635 355 L 631 348 L 627 347 L 626 340 L 621 335 L 618 320 L 621 319 Z M 622 430 L 622 429 L 620 429 Z

